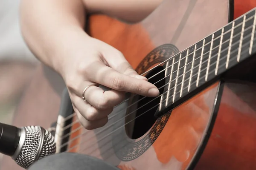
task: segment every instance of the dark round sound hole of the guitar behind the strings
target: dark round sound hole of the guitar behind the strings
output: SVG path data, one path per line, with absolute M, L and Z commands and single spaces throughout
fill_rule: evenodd
M 148 81 L 157 86 L 160 94 L 163 94 L 164 88 L 161 87 L 165 85 L 165 79 L 163 79 L 165 71 L 162 70 L 163 67 L 159 66 L 157 68 L 154 68 L 154 70 L 152 70 L 146 76 L 147 78 L 149 78 L 158 73 L 156 76 L 152 77 Z M 162 72 L 159 73 L 160 71 Z M 142 99 L 143 97 L 144 96 L 134 95 L 134 97 L 131 97 L 129 102 L 129 105 L 132 106 L 129 107 L 126 114 L 127 117 L 125 119 L 125 131 L 127 136 L 131 139 L 138 139 L 143 136 L 145 133 L 148 132 L 148 130 L 154 125 L 155 121 L 157 120 L 154 117 L 154 113 L 157 111 L 161 97 L 145 97 L 144 99 Z

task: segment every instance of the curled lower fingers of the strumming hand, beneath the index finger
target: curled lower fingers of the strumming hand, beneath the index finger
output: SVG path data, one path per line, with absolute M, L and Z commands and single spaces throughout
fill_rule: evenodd
M 86 86 L 93 83 L 86 82 Z M 108 115 L 113 107 L 124 100 L 124 92 L 110 90 L 103 91 L 97 86 L 89 86 L 84 92 L 84 101 L 80 96 L 73 96 L 73 107 L 79 121 L 87 129 L 95 129 L 104 126 L 108 122 Z

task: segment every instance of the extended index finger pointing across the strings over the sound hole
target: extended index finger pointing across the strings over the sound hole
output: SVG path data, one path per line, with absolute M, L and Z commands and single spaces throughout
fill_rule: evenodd
M 157 87 L 143 79 L 136 79 L 115 71 L 104 65 L 102 62 L 96 62 L 91 69 L 88 70 L 88 76 L 92 82 L 96 82 L 117 91 L 125 91 L 143 96 L 158 96 Z

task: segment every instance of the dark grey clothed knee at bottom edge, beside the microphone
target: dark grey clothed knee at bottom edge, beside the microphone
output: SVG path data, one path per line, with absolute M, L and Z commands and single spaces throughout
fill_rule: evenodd
M 35 162 L 28 170 L 120 170 L 87 155 L 58 153 Z

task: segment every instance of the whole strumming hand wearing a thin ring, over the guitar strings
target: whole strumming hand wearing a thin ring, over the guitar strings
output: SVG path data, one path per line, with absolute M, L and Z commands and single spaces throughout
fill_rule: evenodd
M 66 54 L 62 77 L 81 124 L 88 130 L 104 126 L 113 107 L 124 100 L 125 92 L 158 96 L 156 86 L 137 74 L 122 53 L 92 37 L 74 39 L 73 53 Z M 75 51 L 75 52 L 74 52 Z M 93 85 L 95 84 L 95 85 Z M 88 87 L 82 99 L 84 88 Z M 103 91 L 98 85 L 111 88 Z

